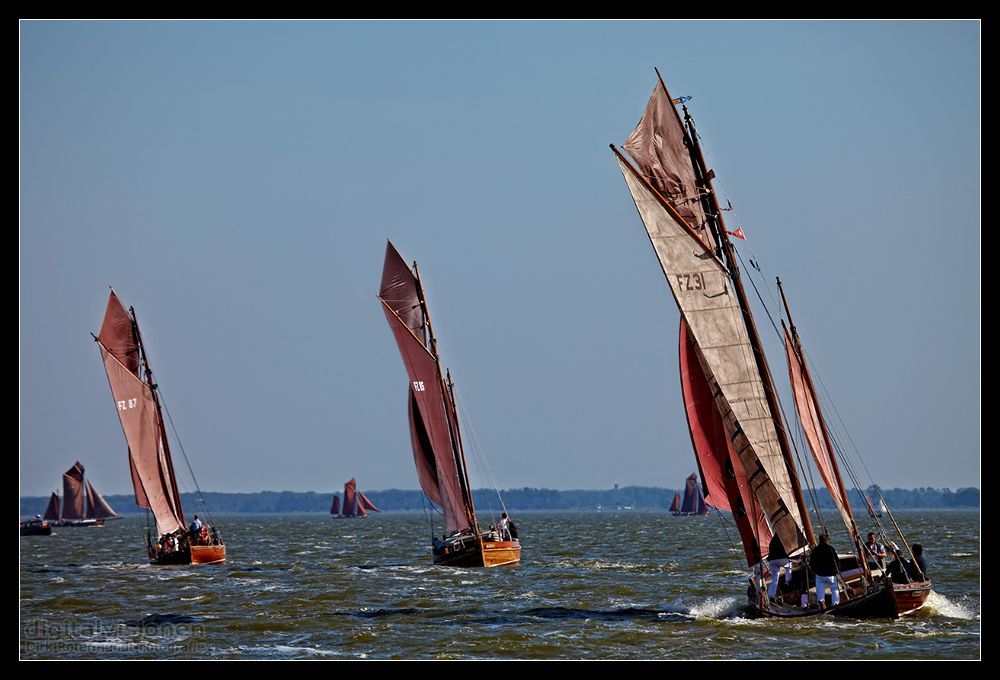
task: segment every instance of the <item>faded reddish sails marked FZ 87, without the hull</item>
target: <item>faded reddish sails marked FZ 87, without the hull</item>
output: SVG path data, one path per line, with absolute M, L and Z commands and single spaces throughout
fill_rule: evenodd
M 123 330 L 122 314 L 132 327 L 129 333 Z M 97 340 L 128 441 L 136 503 L 152 511 L 160 534 L 168 534 L 185 528 L 184 511 L 176 491 L 159 405 L 149 385 L 139 379 L 138 356 L 128 349 L 128 343 L 136 338 L 134 320 L 112 291 Z

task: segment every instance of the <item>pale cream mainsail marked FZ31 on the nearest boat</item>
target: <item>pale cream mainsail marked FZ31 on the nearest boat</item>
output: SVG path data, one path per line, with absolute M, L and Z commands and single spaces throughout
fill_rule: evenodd
M 801 510 L 728 272 L 677 212 L 616 157 L 751 487 L 786 549 L 804 545 Z

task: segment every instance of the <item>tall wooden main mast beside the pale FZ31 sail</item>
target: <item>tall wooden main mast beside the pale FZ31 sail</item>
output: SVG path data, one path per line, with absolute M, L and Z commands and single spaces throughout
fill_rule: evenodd
M 660 76 L 660 72 L 656 72 L 657 77 Z M 666 92 L 666 85 L 663 84 L 663 78 L 660 78 L 660 85 Z M 669 97 L 669 93 L 667 95 Z M 721 244 L 721 249 L 725 257 L 726 268 L 729 270 L 729 279 L 733 284 L 733 290 L 736 292 L 736 298 L 739 301 L 740 309 L 743 312 L 743 325 L 746 327 L 747 337 L 750 340 L 750 346 L 753 348 L 754 361 L 757 364 L 757 373 L 760 376 L 761 383 L 764 385 L 764 395 L 767 399 L 768 406 L 771 411 L 771 419 L 774 421 L 774 429 L 778 435 L 778 446 L 781 449 L 781 455 L 785 459 L 785 466 L 788 469 L 788 477 L 792 483 L 792 490 L 795 494 L 795 498 L 799 503 L 799 507 L 802 508 L 801 518 L 802 518 L 802 528 L 805 532 L 806 540 L 810 544 L 815 545 L 816 538 L 813 535 L 812 523 L 809 521 L 809 513 L 805 510 L 806 503 L 805 497 L 802 494 L 802 485 L 799 483 L 799 477 L 796 473 L 795 463 L 792 460 L 791 448 L 788 446 L 788 438 L 785 434 L 784 424 L 781 422 L 779 417 L 778 403 L 775 399 L 775 389 L 774 383 L 771 381 L 771 371 L 767 366 L 767 358 L 764 356 L 764 350 L 761 347 L 760 335 L 757 333 L 757 324 L 754 322 L 753 313 L 750 311 L 750 304 L 747 301 L 746 291 L 743 288 L 743 278 L 740 276 L 740 268 L 736 262 L 736 252 L 733 248 L 732 241 L 729 239 L 729 234 L 726 231 L 726 224 L 722 218 L 722 211 L 719 208 L 718 196 L 716 196 L 715 189 L 712 187 L 712 177 L 715 176 L 714 172 L 710 172 L 706 169 L 705 158 L 701 152 L 701 144 L 698 142 L 698 135 L 696 134 L 694 128 L 694 120 L 691 118 L 691 114 L 688 113 L 687 106 L 681 104 L 681 108 L 684 109 L 684 121 L 687 127 L 687 140 L 690 144 L 691 161 L 694 165 L 695 174 L 698 176 L 699 182 L 702 184 L 703 193 L 702 201 L 706 204 L 706 215 L 709 219 L 709 224 L 711 225 L 713 236 L 716 237 L 717 242 Z M 787 548 L 786 548 L 787 549 Z

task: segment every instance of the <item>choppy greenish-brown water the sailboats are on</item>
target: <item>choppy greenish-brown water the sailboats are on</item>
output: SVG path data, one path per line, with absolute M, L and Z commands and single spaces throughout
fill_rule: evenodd
M 430 563 L 419 514 L 217 517 L 224 566 L 153 567 L 144 522 L 20 539 L 22 659 L 977 659 L 977 512 L 911 511 L 928 606 L 900 621 L 745 616 L 731 527 L 515 513 L 523 563 Z M 834 544 L 839 547 L 834 536 Z

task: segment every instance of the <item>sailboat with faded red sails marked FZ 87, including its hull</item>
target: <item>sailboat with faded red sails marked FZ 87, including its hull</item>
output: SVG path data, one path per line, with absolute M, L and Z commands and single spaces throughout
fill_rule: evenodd
M 113 290 L 100 335 L 94 339 L 101 348 L 108 383 L 128 442 L 136 505 L 151 511 L 156 520 L 156 538 L 151 532 L 146 536 L 149 561 L 225 563 L 226 546 L 215 527 L 203 524 L 197 515 L 190 529 L 185 525 L 157 386 L 135 311 L 126 310 Z

